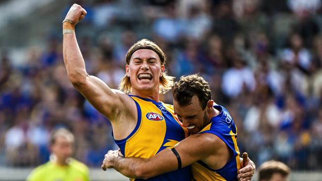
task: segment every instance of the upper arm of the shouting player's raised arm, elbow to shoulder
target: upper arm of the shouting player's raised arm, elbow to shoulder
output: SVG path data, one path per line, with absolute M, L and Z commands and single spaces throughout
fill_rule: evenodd
M 107 84 L 95 76 L 87 76 L 86 80 L 74 87 L 109 120 L 115 120 L 124 102 L 122 92 L 110 89 Z M 124 95 L 123 95 L 124 96 Z

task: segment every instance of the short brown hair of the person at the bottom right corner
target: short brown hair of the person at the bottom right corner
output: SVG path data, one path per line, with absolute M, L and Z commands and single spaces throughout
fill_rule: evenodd
M 279 161 L 264 162 L 259 168 L 259 180 L 269 180 L 274 174 L 280 174 L 282 177 L 287 177 L 291 173 L 291 169 Z

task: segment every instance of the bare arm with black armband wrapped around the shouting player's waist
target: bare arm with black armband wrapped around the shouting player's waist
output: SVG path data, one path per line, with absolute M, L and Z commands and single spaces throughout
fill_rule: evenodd
M 193 146 L 192 146 L 193 145 Z M 181 168 L 213 154 L 216 140 L 203 135 L 192 135 L 174 146 L 180 156 Z M 102 169 L 114 168 L 129 178 L 149 179 L 178 169 L 178 159 L 171 149 L 163 149 L 157 155 L 143 159 L 124 158 L 117 151 L 108 151 Z

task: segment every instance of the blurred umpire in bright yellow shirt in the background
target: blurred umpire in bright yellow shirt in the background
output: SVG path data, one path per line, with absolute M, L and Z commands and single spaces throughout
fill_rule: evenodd
M 87 166 L 70 156 L 73 153 L 74 136 L 60 128 L 50 138 L 50 161 L 35 168 L 27 181 L 89 181 Z

